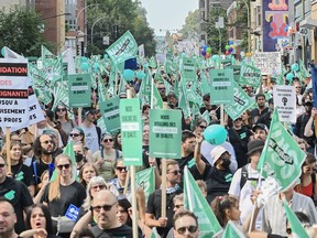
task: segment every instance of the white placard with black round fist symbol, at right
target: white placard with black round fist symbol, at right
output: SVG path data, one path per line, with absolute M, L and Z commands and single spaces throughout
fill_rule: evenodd
M 294 86 L 275 85 L 273 87 L 274 106 L 277 108 L 280 121 L 296 122 L 296 93 Z

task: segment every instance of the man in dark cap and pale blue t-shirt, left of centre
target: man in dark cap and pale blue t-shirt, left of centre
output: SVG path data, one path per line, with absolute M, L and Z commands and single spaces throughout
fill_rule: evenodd
M 94 108 L 87 109 L 84 116 L 85 118 L 80 128 L 85 133 L 86 147 L 94 154 L 100 147 L 101 130 L 94 123 L 96 121 L 96 110 Z

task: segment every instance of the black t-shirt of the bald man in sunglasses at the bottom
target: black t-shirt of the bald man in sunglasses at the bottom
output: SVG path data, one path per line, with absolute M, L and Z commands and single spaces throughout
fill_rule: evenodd
M 132 238 L 133 237 L 132 228 L 127 225 L 122 225 L 113 229 L 105 229 L 105 230 L 101 230 L 98 226 L 94 226 L 90 228 L 90 230 L 96 238 L 110 238 L 110 237 L 111 238 L 123 238 L 123 237 Z M 138 237 L 141 238 L 142 236 L 139 234 Z

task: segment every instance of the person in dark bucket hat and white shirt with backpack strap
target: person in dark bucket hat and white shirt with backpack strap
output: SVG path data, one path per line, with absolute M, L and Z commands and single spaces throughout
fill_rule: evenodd
M 232 177 L 228 194 L 239 199 L 239 208 L 241 210 L 240 219 L 243 221 L 252 212 L 253 204 L 251 196 L 256 188 L 259 181 L 259 172 L 256 170 L 262 150 L 264 148 L 263 140 L 253 140 L 248 143 L 248 156 L 250 163 L 237 170 Z M 261 215 L 256 219 L 256 228 L 261 227 Z

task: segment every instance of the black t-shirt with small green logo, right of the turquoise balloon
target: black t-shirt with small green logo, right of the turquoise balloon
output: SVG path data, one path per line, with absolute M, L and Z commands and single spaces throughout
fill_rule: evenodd
M 232 144 L 238 162 L 238 167 L 242 167 L 248 163 L 248 142 L 252 136 L 251 130 L 242 127 L 240 130 L 230 128 L 228 130 L 229 141 Z

